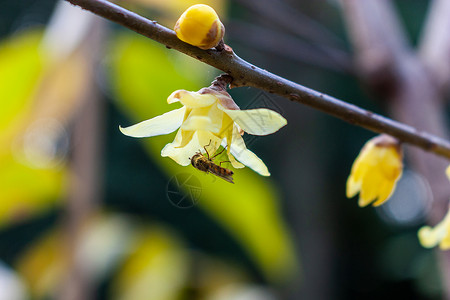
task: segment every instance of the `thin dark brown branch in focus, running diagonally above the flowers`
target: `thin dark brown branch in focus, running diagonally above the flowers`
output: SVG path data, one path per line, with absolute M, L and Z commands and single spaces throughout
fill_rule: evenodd
M 172 30 L 157 24 L 156 21 L 148 20 L 108 1 L 66 1 L 228 73 L 234 79 L 233 86 L 251 86 L 278 94 L 351 124 L 377 133 L 387 133 L 405 143 L 450 158 L 448 141 L 291 82 L 248 63 L 234 53 L 214 49 L 201 50 L 186 44 L 179 40 Z

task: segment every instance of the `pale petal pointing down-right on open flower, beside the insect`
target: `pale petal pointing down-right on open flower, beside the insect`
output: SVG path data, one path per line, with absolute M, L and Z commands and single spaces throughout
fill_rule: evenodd
M 231 154 L 241 163 L 263 176 L 270 176 L 269 170 L 264 162 L 256 154 L 247 149 L 244 139 L 240 134 L 233 135 L 230 148 Z

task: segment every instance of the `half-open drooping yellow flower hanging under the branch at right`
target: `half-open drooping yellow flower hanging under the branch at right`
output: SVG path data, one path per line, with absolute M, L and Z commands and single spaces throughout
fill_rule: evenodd
M 347 197 L 359 193 L 359 206 L 383 204 L 393 193 L 403 170 L 397 139 L 380 135 L 369 140 L 353 163 L 347 179 Z

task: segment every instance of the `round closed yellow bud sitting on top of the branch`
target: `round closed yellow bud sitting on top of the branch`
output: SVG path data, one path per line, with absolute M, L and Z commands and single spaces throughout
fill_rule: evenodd
M 180 40 L 204 50 L 217 46 L 225 34 L 219 16 L 205 4 L 189 7 L 178 19 L 174 30 Z

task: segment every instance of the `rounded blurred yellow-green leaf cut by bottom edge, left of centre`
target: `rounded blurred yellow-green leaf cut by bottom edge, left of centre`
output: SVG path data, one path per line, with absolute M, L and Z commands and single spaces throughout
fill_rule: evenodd
M 175 234 L 158 226 L 140 226 L 112 284 L 112 299 L 179 299 L 188 281 L 189 260 Z

